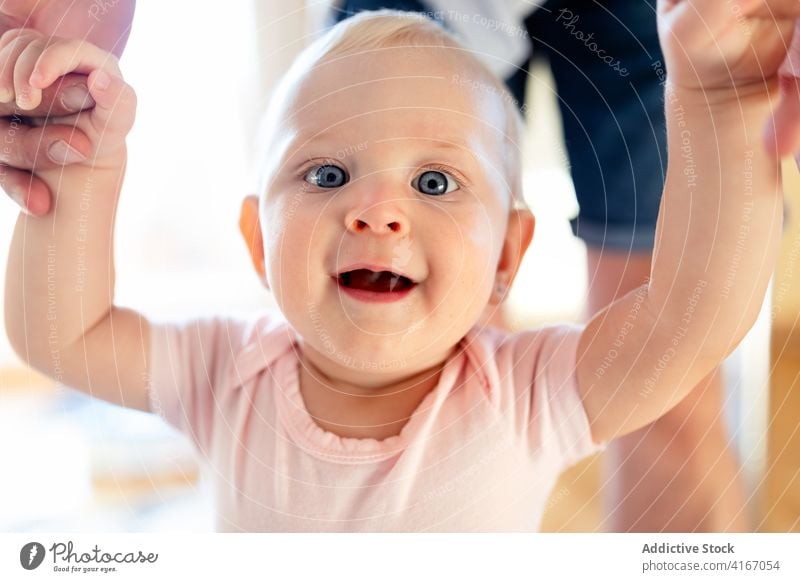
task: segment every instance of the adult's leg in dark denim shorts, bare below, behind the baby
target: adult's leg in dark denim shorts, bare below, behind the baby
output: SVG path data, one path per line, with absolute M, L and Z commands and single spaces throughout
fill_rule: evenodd
M 588 311 L 646 281 L 666 166 L 663 58 L 654 1 L 551 0 L 529 18 L 550 60 L 588 246 Z M 719 374 L 609 447 L 612 531 L 746 530 L 744 493 L 722 422 Z

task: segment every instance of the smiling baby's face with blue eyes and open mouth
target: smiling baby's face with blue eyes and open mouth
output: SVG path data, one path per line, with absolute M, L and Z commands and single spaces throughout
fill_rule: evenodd
M 267 280 L 329 362 L 388 374 L 438 363 L 492 294 L 511 198 L 505 113 L 495 92 L 453 83 L 470 73 L 443 52 L 318 65 L 273 141 Z

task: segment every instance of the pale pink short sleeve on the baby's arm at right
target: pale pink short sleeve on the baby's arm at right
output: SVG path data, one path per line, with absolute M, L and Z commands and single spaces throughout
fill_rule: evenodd
M 562 468 L 605 449 L 592 440 L 578 391 L 576 353 L 583 327 L 560 325 L 537 334 L 529 438 Z

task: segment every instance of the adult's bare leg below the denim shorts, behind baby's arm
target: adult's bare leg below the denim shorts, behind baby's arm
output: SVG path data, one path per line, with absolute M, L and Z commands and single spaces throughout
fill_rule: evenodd
M 589 248 L 588 309 L 595 313 L 641 285 L 649 253 Z M 710 374 L 677 407 L 606 455 L 604 529 L 610 531 L 748 531 L 738 463 L 722 422 L 722 382 Z

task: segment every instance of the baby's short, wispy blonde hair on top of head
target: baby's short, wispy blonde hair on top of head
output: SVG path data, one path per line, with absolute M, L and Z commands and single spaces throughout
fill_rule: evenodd
M 522 193 L 520 146 L 524 121 L 516 100 L 505 84 L 497 79 L 489 68 L 474 56 L 473 51 L 467 49 L 456 36 L 446 31 L 436 21 L 416 12 L 389 9 L 363 11 L 328 29 L 297 56 L 278 83 L 265 116 L 267 128 L 263 133 L 270 135 L 271 130 L 278 125 L 280 115 L 284 111 L 283 107 L 291 99 L 292 91 L 316 64 L 331 57 L 398 46 L 453 49 L 459 53 L 468 67 L 476 70 L 488 81 L 488 83 L 479 83 L 469 80 L 462 82 L 461 86 L 471 85 L 473 89 L 477 87 L 488 89 L 500 98 L 506 117 L 505 128 L 503 128 L 505 146 L 503 161 L 512 197 L 511 207 L 527 208 Z M 458 76 L 454 76 L 454 78 L 458 78 Z M 267 184 L 262 180 L 260 183 L 262 193 L 266 191 L 266 186 Z

